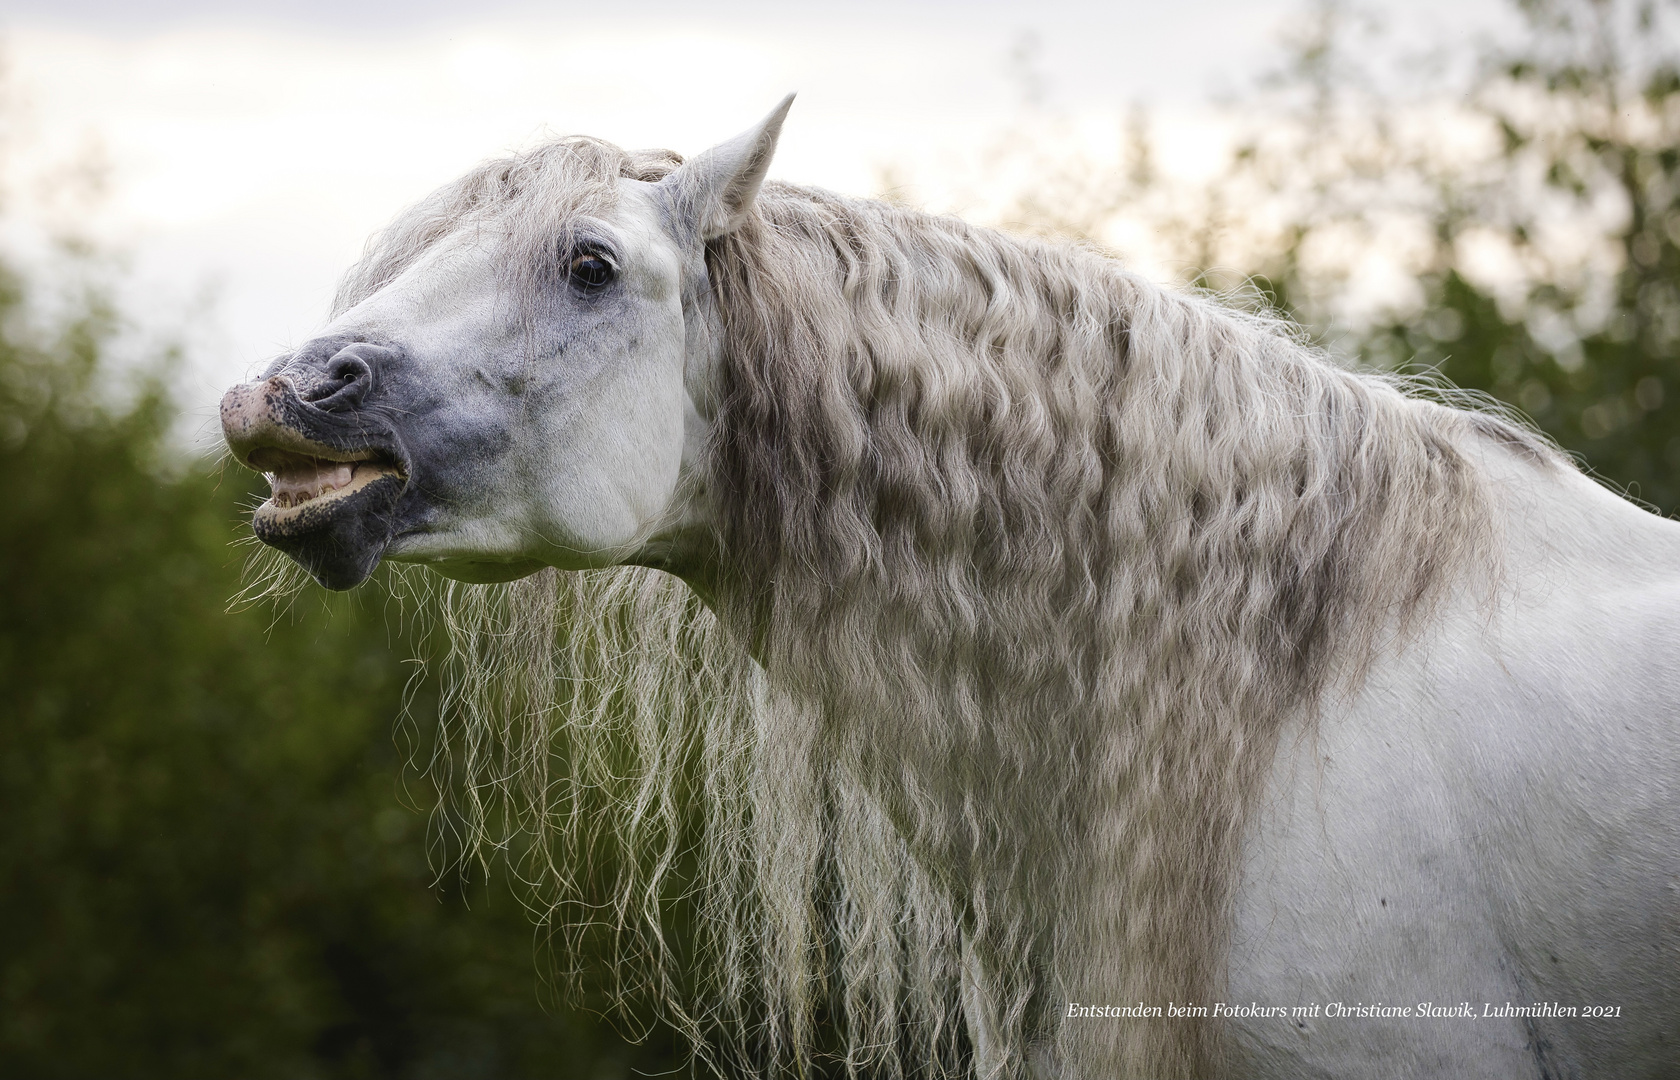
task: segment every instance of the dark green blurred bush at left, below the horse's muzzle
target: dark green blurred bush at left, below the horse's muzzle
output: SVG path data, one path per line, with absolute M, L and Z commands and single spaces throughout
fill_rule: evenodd
M 391 741 L 415 643 L 378 590 L 228 613 L 252 477 L 171 450 L 97 291 L 60 307 L 0 270 L 0 1075 L 675 1068 L 544 1008 L 506 883 L 433 887 Z

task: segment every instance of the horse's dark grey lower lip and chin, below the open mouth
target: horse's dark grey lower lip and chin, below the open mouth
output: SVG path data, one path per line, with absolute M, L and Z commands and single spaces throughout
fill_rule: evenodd
M 351 462 L 349 480 L 292 502 L 276 492 L 257 507 L 250 526 L 264 544 L 279 548 L 329 590 L 368 579 L 391 543 L 391 517 L 407 479 L 378 462 Z

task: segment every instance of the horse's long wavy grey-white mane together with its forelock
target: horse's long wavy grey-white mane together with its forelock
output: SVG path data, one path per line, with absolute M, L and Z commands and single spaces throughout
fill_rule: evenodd
M 465 222 L 536 250 L 675 163 L 491 163 L 338 306 Z M 848 1072 L 971 1068 L 964 951 L 1005 1075 L 1216 1072 L 1211 1023 L 1052 1013 L 1213 999 L 1278 739 L 1497 574 L 1470 447 L 1557 459 L 1112 259 L 899 207 L 771 183 L 707 267 L 716 610 L 638 568 L 437 588 L 445 825 L 768 1073 L 823 1020 Z

